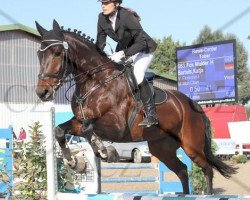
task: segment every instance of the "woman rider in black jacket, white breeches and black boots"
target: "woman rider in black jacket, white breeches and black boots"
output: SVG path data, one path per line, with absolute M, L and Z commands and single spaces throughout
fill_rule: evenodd
M 142 29 L 140 17 L 136 12 L 121 7 L 122 0 L 98 0 L 102 3 L 99 14 L 96 45 L 104 49 L 109 36 L 117 42 L 116 52 L 110 56 L 114 62 L 121 62 L 127 56 L 132 57 L 134 75 L 137 80 L 145 117 L 139 126 L 150 127 L 158 124 L 153 93 L 144 75 L 153 60 L 157 44 Z

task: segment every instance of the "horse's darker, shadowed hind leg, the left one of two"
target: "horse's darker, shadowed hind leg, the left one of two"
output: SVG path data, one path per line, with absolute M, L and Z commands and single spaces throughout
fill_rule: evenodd
M 176 155 L 176 150 L 180 147 L 179 142 L 167 135 L 164 139 L 149 141 L 148 146 L 150 152 L 178 176 L 183 193 L 189 194 L 187 166 Z

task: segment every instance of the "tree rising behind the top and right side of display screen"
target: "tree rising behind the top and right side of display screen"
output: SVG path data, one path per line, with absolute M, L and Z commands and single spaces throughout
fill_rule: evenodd
M 236 39 L 236 62 L 237 62 L 237 84 L 239 102 L 246 104 L 250 100 L 250 72 L 247 68 L 248 54 L 234 34 L 223 34 L 221 31 L 212 32 L 211 28 L 205 26 L 193 44 L 202 44 L 222 40 Z

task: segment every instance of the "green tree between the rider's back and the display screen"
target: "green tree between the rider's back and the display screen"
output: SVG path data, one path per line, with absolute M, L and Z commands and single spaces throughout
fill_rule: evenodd
M 179 41 L 174 42 L 171 36 L 162 40 L 156 39 L 158 47 L 154 53 L 154 60 L 150 69 L 159 74 L 167 73 L 176 76 L 176 48 L 180 46 Z

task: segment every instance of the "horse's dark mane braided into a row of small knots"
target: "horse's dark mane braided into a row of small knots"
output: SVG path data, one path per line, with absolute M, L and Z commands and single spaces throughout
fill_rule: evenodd
M 80 38 L 81 40 L 83 40 L 84 42 L 94 46 L 95 49 L 100 53 L 100 55 L 107 57 L 107 54 L 94 43 L 95 40 L 91 38 L 90 36 L 87 36 L 85 33 L 82 33 L 82 31 L 78 31 L 77 29 L 74 29 L 73 31 L 71 31 L 71 28 L 68 28 L 66 30 L 64 29 L 63 26 L 61 26 L 61 30 L 63 33 L 70 33 L 71 35 L 74 35 Z

